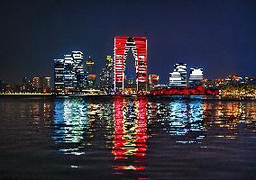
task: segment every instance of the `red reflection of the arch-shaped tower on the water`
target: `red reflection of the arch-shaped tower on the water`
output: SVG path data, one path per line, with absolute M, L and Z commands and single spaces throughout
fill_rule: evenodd
M 114 159 L 123 159 L 130 156 L 140 157 L 139 161 L 143 161 L 142 157 L 146 155 L 147 145 L 147 99 L 139 97 L 133 102 L 136 114 L 136 119 L 132 121 L 135 127 L 130 130 L 125 127 L 125 112 L 123 108 L 127 104 L 124 97 L 116 96 L 114 98 L 114 147 L 112 153 Z M 141 171 L 144 166 L 113 166 L 114 169 L 132 169 Z

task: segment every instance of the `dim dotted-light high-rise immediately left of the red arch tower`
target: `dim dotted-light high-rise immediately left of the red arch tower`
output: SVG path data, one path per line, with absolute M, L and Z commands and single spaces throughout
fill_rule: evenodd
M 106 56 L 105 67 L 100 74 L 100 87 L 106 92 L 110 93 L 113 89 L 113 58 Z

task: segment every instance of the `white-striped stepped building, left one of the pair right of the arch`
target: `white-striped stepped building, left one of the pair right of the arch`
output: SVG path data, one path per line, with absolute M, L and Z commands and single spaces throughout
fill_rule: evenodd
M 187 87 L 187 64 L 177 63 L 174 65 L 174 71 L 169 73 L 169 86 Z

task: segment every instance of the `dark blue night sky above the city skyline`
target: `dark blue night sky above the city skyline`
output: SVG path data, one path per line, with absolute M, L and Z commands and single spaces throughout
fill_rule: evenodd
M 53 59 L 72 50 L 103 66 L 115 35 L 148 37 L 149 73 L 167 81 L 175 62 L 208 78 L 256 76 L 255 0 L 3 1 L 0 79 L 53 76 Z M 130 60 L 130 62 L 133 62 Z

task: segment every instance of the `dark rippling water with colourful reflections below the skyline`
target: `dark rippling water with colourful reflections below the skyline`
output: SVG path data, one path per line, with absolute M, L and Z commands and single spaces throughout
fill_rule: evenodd
M 0 178 L 255 179 L 256 102 L 1 98 Z

